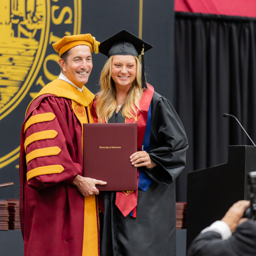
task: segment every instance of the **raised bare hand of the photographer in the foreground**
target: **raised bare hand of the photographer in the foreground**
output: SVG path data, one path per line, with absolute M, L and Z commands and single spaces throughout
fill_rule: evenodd
M 246 219 L 241 219 L 244 215 L 245 209 L 250 205 L 250 201 L 242 200 L 234 203 L 229 210 L 226 212 L 222 221 L 226 222 L 233 232 L 236 230 L 237 226 L 241 224 Z

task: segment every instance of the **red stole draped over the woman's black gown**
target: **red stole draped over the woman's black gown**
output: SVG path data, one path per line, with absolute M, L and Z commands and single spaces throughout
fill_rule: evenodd
M 150 103 L 154 94 L 154 88 L 149 83 L 147 83 L 147 88 L 148 89 L 143 92 L 142 98 L 140 100 L 141 111 L 140 110 L 137 111 L 137 116 L 135 119 L 134 118 L 125 119 L 125 123 L 137 123 L 137 135 L 138 135 L 137 151 L 141 151 L 141 148 L 142 148 L 143 138 L 146 130 L 148 109 L 150 108 Z M 93 102 L 94 123 L 98 123 L 98 117 L 95 111 L 96 102 L 97 102 L 97 98 Z M 139 169 L 137 170 L 137 185 L 138 185 L 138 182 L 139 182 Z M 101 211 L 103 211 L 104 201 L 103 201 L 103 196 L 101 195 L 99 196 L 98 199 L 99 199 L 99 207 Z M 136 218 L 137 200 L 138 200 L 138 190 L 137 191 L 117 191 L 116 193 L 116 206 L 122 212 L 124 217 L 126 217 L 131 211 L 133 211 L 133 217 Z

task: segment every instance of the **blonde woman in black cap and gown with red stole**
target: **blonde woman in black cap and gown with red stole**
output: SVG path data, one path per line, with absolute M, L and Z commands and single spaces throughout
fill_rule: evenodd
M 94 121 L 138 127 L 138 152 L 131 156 L 138 191 L 106 191 L 99 198 L 101 256 L 176 255 L 174 180 L 185 167 L 188 144 L 173 106 L 145 81 L 143 55 L 151 48 L 125 30 L 99 46 L 109 59 L 93 103 Z

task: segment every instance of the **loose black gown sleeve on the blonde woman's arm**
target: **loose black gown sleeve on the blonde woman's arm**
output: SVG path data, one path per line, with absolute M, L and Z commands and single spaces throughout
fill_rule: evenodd
M 170 184 L 185 167 L 187 137 L 181 120 L 170 102 L 157 94 L 151 101 L 151 138 L 148 154 L 157 164 L 143 167 L 153 180 Z

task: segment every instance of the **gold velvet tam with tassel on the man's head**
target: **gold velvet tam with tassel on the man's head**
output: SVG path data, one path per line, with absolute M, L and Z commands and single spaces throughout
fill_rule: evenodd
M 95 51 L 95 54 L 99 52 L 100 42 L 96 41 L 95 37 L 91 34 L 64 36 L 59 41 L 55 42 L 52 46 L 60 57 L 69 49 L 80 45 L 89 46 L 91 48 L 91 52 Z

